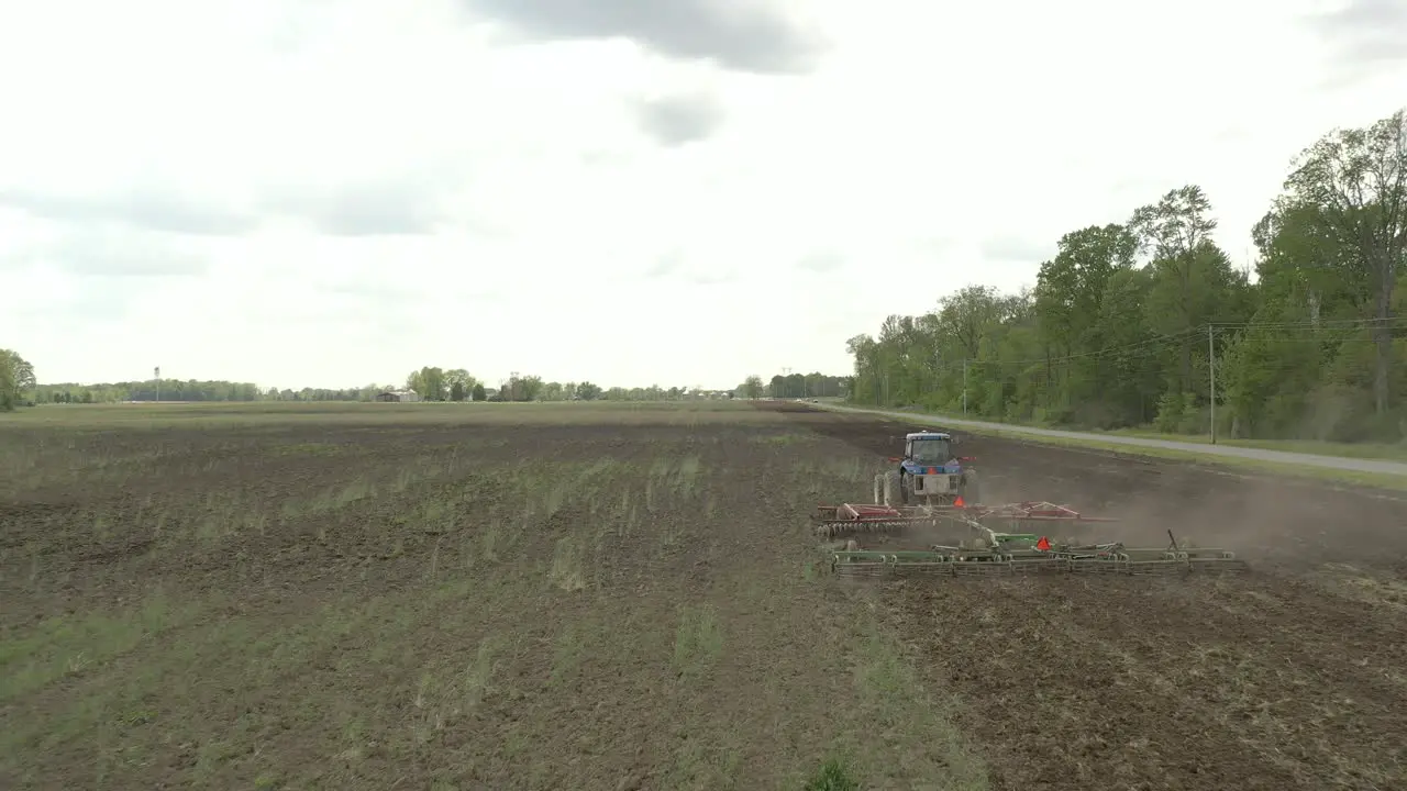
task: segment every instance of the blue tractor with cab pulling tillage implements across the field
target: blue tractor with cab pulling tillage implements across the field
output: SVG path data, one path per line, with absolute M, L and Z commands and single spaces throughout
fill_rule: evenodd
M 954 504 L 958 498 L 964 505 L 982 502 L 976 470 L 964 466 L 969 457 L 953 455 L 957 441 L 940 431 L 916 431 L 903 438 L 903 457 L 899 469 L 885 470 L 875 476 L 875 502 L 892 508 L 903 505 Z

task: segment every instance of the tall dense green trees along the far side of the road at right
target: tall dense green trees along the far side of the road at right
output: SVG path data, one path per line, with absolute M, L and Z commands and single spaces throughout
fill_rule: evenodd
M 1189 184 L 1071 231 L 1034 289 L 969 286 L 851 338 L 848 397 L 1083 428 L 1407 435 L 1407 110 L 1290 162 L 1252 228 L 1254 281 L 1216 229 Z

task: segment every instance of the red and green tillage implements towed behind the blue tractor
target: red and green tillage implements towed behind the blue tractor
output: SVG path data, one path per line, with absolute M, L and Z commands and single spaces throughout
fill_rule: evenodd
M 826 538 L 905 533 L 922 529 L 965 533 L 955 546 L 933 545 L 927 549 L 860 549 L 847 540 L 844 549 L 830 550 L 830 569 L 848 576 L 892 574 L 1183 574 L 1189 571 L 1245 573 L 1244 560 L 1225 549 L 1192 548 L 1168 531 L 1168 546 L 1158 549 L 1127 548 L 1121 542 L 1078 543 L 1050 539 L 1037 532 L 1050 522 L 1069 526 L 1113 522 L 1086 517 L 1052 502 L 1013 502 L 1007 505 L 822 505 L 816 514 L 816 532 Z M 1003 528 L 1003 529 L 999 529 Z

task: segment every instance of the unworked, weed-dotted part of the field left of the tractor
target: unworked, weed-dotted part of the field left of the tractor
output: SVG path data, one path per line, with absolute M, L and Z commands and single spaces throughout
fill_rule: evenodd
M 113 415 L 0 426 L 6 788 L 982 784 L 784 415 Z

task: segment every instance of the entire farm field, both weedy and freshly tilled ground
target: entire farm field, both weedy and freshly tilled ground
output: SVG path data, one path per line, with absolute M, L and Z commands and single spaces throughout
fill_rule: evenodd
M 906 426 L 771 407 L 3 419 L 0 787 L 1407 785 L 1407 504 L 971 438 L 1256 573 L 848 584 Z

